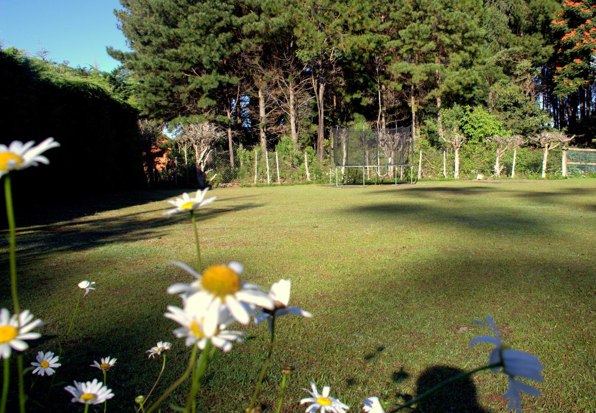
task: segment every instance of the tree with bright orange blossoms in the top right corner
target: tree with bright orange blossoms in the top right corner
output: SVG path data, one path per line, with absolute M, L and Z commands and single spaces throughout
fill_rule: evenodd
M 596 54 L 596 0 L 564 0 L 562 6 L 551 21 L 552 29 L 561 34 L 553 76 L 559 96 L 576 93 L 594 81 L 590 61 Z

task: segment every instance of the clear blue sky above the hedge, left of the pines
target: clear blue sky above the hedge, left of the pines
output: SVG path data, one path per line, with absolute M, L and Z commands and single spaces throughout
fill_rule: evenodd
M 89 67 L 95 58 L 109 71 L 119 62 L 105 47 L 128 50 L 114 8 L 122 8 L 118 0 L 0 0 L 0 39 L 32 54 L 39 39 L 54 61 Z

